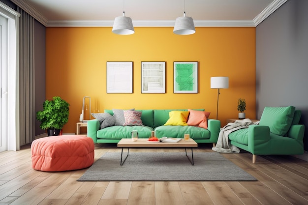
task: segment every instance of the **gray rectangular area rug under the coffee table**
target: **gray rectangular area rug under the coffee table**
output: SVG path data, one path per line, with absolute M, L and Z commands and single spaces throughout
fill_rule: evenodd
M 187 150 L 188 151 L 188 150 Z M 127 154 L 123 152 L 125 157 Z M 191 157 L 191 151 L 187 152 Z M 107 152 L 78 181 L 255 181 L 217 152 L 130 152 L 123 166 L 121 152 Z

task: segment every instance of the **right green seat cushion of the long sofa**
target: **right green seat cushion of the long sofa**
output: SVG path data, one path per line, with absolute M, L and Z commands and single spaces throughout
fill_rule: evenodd
M 155 129 L 156 137 L 174 137 L 174 138 L 184 138 L 184 134 L 189 134 L 189 137 L 198 139 L 210 139 L 210 131 L 202 127 L 195 126 L 181 126 L 181 125 L 162 125 Z

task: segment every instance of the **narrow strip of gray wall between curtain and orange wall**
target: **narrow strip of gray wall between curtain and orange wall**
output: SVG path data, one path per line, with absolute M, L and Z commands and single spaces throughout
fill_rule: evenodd
M 34 72 L 35 72 L 35 113 L 43 110 L 46 100 L 46 28 L 35 21 L 34 25 Z M 45 133 L 39 128 L 40 122 L 35 120 L 35 136 Z

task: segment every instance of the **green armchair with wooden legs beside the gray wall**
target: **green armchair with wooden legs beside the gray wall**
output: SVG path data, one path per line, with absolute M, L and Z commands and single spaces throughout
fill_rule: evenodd
M 229 134 L 230 143 L 257 155 L 293 155 L 304 153 L 304 125 L 301 111 L 295 107 L 265 107 L 258 125 L 249 125 Z

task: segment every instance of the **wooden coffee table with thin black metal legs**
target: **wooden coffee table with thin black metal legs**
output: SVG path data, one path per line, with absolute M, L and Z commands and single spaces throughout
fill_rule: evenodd
M 180 142 L 177 142 L 177 143 L 161 143 L 161 142 L 151 142 L 147 138 L 144 138 L 144 139 L 140 138 L 137 141 L 132 141 L 130 138 L 126 138 L 126 139 L 120 140 L 120 142 L 118 143 L 118 147 L 122 147 L 120 165 L 121 166 L 123 165 L 126 158 L 128 157 L 129 148 L 132 148 L 132 147 L 183 147 L 185 148 L 185 155 L 187 156 L 187 159 L 192 165 L 194 165 L 192 148 L 197 147 L 197 146 L 198 144 L 193 139 L 189 139 L 189 141 L 185 141 L 184 139 L 182 139 Z M 128 148 L 128 150 L 127 150 L 127 155 L 122 162 L 123 148 L 125 147 Z M 189 159 L 187 155 L 186 148 L 191 148 L 191 160 Z

